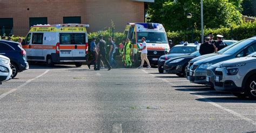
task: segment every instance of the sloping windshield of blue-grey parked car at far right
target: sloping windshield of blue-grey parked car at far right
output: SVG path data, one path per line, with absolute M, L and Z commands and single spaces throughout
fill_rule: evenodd
M 248 44 L 250 44 L 253 41 L 254 40 L 251 40 L 251 39 L 246 39 L 246 40 L 239 41 L 238 43 L 235 43 L 236 45 L 234 45 L 230 49 L 227 49 L 226 51 L 224 51 L 223 54 L 225 54 L 225 55 L 232 55 L 234 53 L 237 53 L 238 50 L 246 47 Z

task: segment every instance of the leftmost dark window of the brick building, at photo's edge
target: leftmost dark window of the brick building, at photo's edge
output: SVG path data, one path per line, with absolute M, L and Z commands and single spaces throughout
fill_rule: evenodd
M 14 19 L 0 18 L 0 35 L 12 35 L 12 28 L 14 27 Z

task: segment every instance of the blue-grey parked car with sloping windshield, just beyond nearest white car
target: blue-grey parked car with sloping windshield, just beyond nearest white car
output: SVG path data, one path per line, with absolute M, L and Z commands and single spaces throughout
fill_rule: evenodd
M 256 38 L 239 41 L 233 47 L 227 49 L 222 54 L 207 57 L 194 62 L 190 68 L 190 82 L 206 84 L 206 69 L 213 64 L 230 60 L 232 58 L 244 57 L 256 51 Z

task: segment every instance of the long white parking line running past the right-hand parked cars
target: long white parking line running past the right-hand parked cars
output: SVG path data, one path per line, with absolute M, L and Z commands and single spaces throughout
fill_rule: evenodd
M 147 71 L 145 71 L 145 70 L 142 70 L 142 71 L 145 72 L 145 73 L 147 73 L 147 74 L 150 74 L 150 75 L 153 76 L 153 77 L 156 77 L 156 76 L 152 75 L 151 73 L 149 73 L 149 72 L 147 72 Z M 167 82 L 167 83 L 169 83 L 169 84 L 172 85 L 172 86 L 178 86 L 178 85 L 176 85 L 176 84 L 170 83 L 170 82 L 169 82 L 168 80 L 166 80 L 166 79 L 162 79 L 162 78 L 158 78 L 158 79 L 161 79 L 161 80 L 163 80 L 164 82 Z M 194 93 L 194 92 L 190 92 L 190 90 L 188 90 L 188 89 L 187 89 L 186 91 L 188 91 L 189 93 Z M 247 122 L 250 122 L 250 123 L 253 124 L 253 125 L 256 125 L 256 122 L 253 121 L 252 119 L 248 119 L 247 117 L 242 116 L 241 114 L 239 114 L 239 113 L 237 113 L 237 112 L 234 112 L 234 111 L 231 110 L 231 109 L 227 109 L 227 108 L 225 108 L 225 107 L 223 107 L 223 106 L 220 106 L 220 105 L 216 104 L 215 102 L 213 102 L 213 101 L 211 101 L 211 100 L 209 100 L 209 99 L 206 99 L 206 98 L 203 97 L 202 95 L 199 95 L 199 94 L 197 94 L 197 93 L 194 93 L 194 94 L 196 95 L 196 97 L 198 97 L 198 98 L 200 98 L 200 99 L 204 99 L 204 101 L 207 102 L 208 104 L 211 104 L 211 105 L 213 105 L 213 106 L 215 106 L 215 107 L 217 107 L 217 108 L 220 108 L 220 109 L 222 109 L 222 110 L 225 110 L 226 112 L 228 112 L 228 113 L 230 113 L 230 114 L 232 114 L 232 115 L 234 115 L 234 116 L 237 116 L 237 117 L 239 117 L 239 118 L 242 119 L 242 120 L 245 120 L 245 121 L 247 121 Z

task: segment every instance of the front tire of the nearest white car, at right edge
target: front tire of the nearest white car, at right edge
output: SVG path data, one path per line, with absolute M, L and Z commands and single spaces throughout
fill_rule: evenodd
M 256 76 L 248 78 L 245 86 L 245 94 L 250 99 L 256 99 Z

